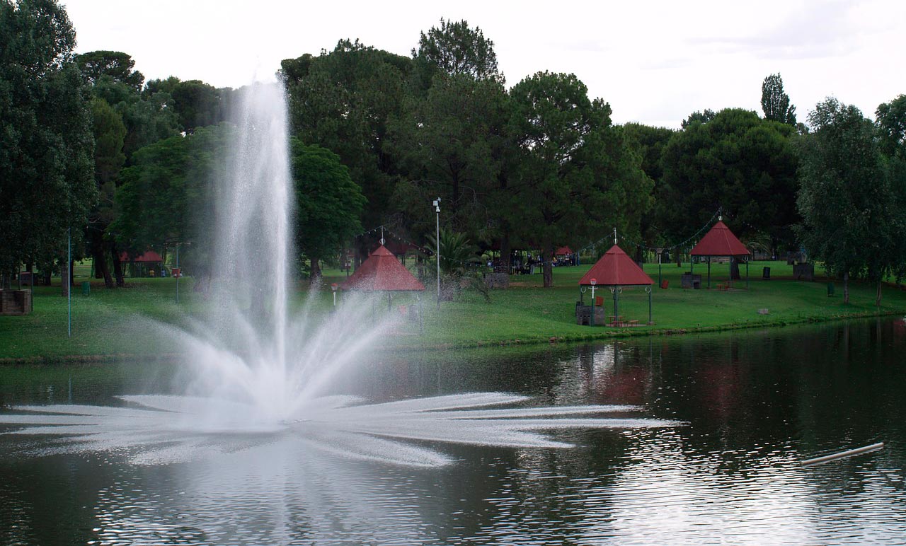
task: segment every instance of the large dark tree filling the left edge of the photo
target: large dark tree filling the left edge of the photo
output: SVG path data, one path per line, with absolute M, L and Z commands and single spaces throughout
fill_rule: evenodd
M 67 229 L 82 232 L 97 192 L 65 10 L 53 0 L 0 0 L 0 36 L 0 272 L 11 272 L 64 254 Z

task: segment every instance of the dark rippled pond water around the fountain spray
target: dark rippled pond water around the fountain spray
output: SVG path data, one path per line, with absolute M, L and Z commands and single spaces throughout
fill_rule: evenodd
M 432 444 L 457 458 L 436 469 L 299 456 L 283 442 L 129 465 L 117 451 L 23 455 L 53 438 L 4 435 L 0 544 L 903 544 L 904 355 L 899 319 L 384 355 L 338 390 L 505 391 L 639 405 L 639 417 L 685 425 L 554 433 L 573 449 Z M 116 404 L 159 392 L 168 374 L 3 369 L 0 403 Z

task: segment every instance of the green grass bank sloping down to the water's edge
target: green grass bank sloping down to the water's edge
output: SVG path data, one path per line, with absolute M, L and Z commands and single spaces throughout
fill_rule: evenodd
M 771 267 L 770 281 L 761 278 L 762 267 Z M 418 335 L 418 324 L 401 322 L 399 335 L 388 343 L 400 348 L 474 347 L 506 343 L 547 342 L 549 340 L 590 340 L 612 336 L 680 333 L 686 331 L 729 330 L 753 326 L 784 325 L 795 322 L 827 321 L 876 314 L 906 313 L 906 292 L 885 287 L 882 306 L 874 306 L 874 287 L 851 283 L 850 304 L 843 305 L 843 287 L 835 283 L 836 294 L 828 297 L 824 278 L 806 283 L 791 279 L 792 267 L 786 263 L 753 263 L 749 288 L 745 279 L 737 289 L 727 292 L 713 287 L 728 278 L 727 264 L 711 267 L 712 290 L 682 290 L 679 275 L 689 264 L 678 268 L 675 263 L 662 266 L 662 277 L 670 288 L 653 288 L 653 326 L 648 321 L 648 295 L 641 288 L 625 288 L 620 297 L 620 314 L 626 320 L 637 320 L 643 326 L 609 328 L 579 326 L 573 316 L 579 297 L 578 280 L 589 266 L 554 269 L 554 287 L 542 288 L 541 276 L 512 278 L 506 291 L 492 291 L 491 302 L 476 292 L 462 292 L 455 302 L 444 302 L 438 311 L 434 299 L 425 294 L 425 332 Z M 646 273 L 658 280 L 658 265 L 646 264 Z M 696 265 L 706 283 L 706 266 Z M 745 276 L 745 269 L 743 269 Z M 823 274 L 823 272 L 816 272 Z M 77 279 L 77 283 L 87 279 Z M 328 277 L 327 283 L 333 280 Z M 175 280 L 132 280 L 131 288 L 106 290 L 102 283 L 92 283 L 90 296 L 79 290 L 72 296 L 72 338 L 66 335 L 67 308 L 60 287 L 35 289 L 34 313 L 23 317 L 0 317 L 0 361 L 41 361 L 73 359 L 120 359 L 124 355 L 160 355 L 167 353 L 152 328 L 142 318 L 181 324 L 202 311 L 207 302 L 192 292 L 191 280 L 180 283 L 180 303 L 175 302 Z M 608 314 L 612 313 L 611 293 L 603 295 Z M 304 291 L 298 294 L 304 300 Z M 341 295 L 342 297 L 342 295 Z M 316 298 L 313 312 L 326 310 L 330 291 Z M 585 294 L 585 302 L 591 299 Z M 410 296 L 399 296 L 396 305 L 411 302 Z M 386 307 L 377 307 L 386 312 Z M 758 314 L 767 309 L 768 314 Z M 363 320 L 371 311 L 363 311 Z

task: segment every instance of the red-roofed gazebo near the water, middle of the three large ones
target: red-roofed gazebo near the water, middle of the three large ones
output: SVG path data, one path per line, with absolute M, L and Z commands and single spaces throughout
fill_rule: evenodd
M 580 310 L 583 315 L 589 315 L 589 325 L 594 326 L 595 316 L 592 310 L 601 303 L 603 307 L 603 298 L 593 297 L 592 305 L 583 305 L 583 294 L 587 287 L 606 286 L 613 294 L 613 315 L 610 321 L 612 326 L 633 326 L 639 321 L 623 321 L 620 315 L 620 293 L 623 286 L 644 286 L 645 292 L 648 292 L 648 323 L 651 324 L 651 280 L 641 267 L 622 251 L 618 245 L 614 244 L 610 250 L 601 256 L 592 266 L 592 269 L 585 273 L 579 286 L 583 287 L 579 292 L 579 302 L 576 303 L 576 317 L 580 318 Z M 579 323 L 582 324 L 581 318 Z

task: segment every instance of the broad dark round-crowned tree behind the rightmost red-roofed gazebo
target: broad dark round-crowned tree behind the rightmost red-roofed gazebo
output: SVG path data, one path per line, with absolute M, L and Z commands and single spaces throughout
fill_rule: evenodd
M 737 236 L 793 242 L 797 160 L 795 128 L 749 110 L 720 110 L 679 131 L 663 150 L 657 222 L 670 240 L 685 239 L 719 208 Z

